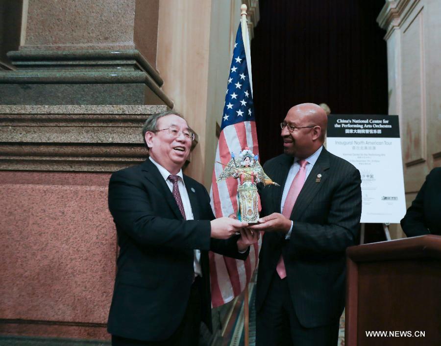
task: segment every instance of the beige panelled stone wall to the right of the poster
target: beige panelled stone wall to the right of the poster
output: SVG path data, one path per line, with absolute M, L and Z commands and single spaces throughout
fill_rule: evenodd
M 378 23 L 387 29 L 389 114 L 400 117 L 407 206 L 441 165 L 441 2 L 389 0 Z M 396 225 L 392 238 L 404 233 Z

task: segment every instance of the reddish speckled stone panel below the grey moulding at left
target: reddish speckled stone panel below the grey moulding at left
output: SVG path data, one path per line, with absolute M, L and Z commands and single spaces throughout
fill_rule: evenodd
M 0 171 L 0 334 L 108 339 L 109 173 Z

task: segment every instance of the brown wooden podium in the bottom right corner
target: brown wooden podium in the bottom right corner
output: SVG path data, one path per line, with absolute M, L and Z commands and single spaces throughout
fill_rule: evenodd
M 345 346 L 441 345 L 441 236 L 346 250 Z

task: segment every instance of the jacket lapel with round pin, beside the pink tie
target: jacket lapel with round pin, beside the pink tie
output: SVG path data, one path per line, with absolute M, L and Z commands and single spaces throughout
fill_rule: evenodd
M 297 200 L 295 201 L 293 211 L 291 212 L 291 219 L 297 220 L 305 211 L 305 208 L 311 203 L 314 196 L 319 192 L 321 186 L 328 177 L 327 170 L 329 169 L 329 152 L 323 147 L 320 156 L 314 164 L 313 169 L 308 175 L 308 178 L 303 185 Z M 321 174 L 319 182 L 316 182 L 318 175 Z

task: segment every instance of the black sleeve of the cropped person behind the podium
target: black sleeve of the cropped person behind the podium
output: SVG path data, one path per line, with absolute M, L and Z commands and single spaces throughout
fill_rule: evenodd
M 426 177 L 426 181 L 418 191 L 417 197 L 412 202 L 412 205 L 407 210 L 406 215 L 404 215 L 403 219 L 401 220 L 401 227 L 408 237 L 417 237 L 430 234 L 424 222 L 424 194 L 429 176 L 430 174 Z

